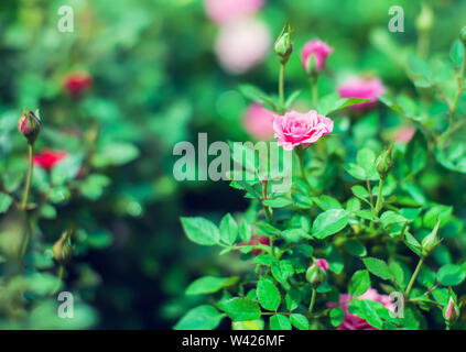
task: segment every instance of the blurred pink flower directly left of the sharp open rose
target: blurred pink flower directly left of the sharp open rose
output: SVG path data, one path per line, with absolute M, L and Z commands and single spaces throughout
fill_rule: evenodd
M 256 102 L 245 112 L 243 125 L 254 139 L 267 140 L 273 135 L 273 112 Z

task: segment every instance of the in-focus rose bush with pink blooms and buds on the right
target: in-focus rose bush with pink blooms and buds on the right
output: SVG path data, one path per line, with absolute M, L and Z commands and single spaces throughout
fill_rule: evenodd
M 268 187 L 272 174 L 232 178 L 231 186 L 250 199 L 245 213 L 228 213 L 218 224 L 203 217 L 181 219 L 189 240 L 217 245 L 220 255 L 238 251 L 249 270 L 193 282 L 186 295 L 214 295 L 214 302 L 187 311 L 175 329 L 215 329 L 226 318 L 232 329 L 463 328 L 464 296 L 458 295 L 464 295 L 466 267 L 459 253 L 466 248 L 460 208 L 440 204 L 432 188 L 425 191 L 432 185 L 418 177 L 440 165 L 456 182 L 458 172 L 466 172 L 466 154 L 453 138 L 465 121 L 466 41 L 453 44 L 449 75 L 442 75 L 442 82 L 456 86 L 454 101 L 436 80 L 436 68 L 419 56 L 405 57 L 410 77 L 422 89 L 419 102 L 409 103 L 407 97 L 393 100 L 378 77 L 350 78 L 322 96 L 317 81 L 325 78 L 324 63 L 330 53 L 338 55 L 338 47 L 333 52 L 323 42 L 307 42 L 302 63 L 312 109 L 300 112 L 294 99 L 304 92 L 289 97 L 284 89 L 294 51 L 291 33 L 285 28 L 275 42 L 279 96 L 251 86 L 242 90 L 275 111 L 277 143 L 293 151 L 300 168 L 293 167 L 288 191 Z M 436 112 L 423 106 L 437 98 L 445 103 Z M 366 133 L 357 132 L 358 124 L 375 121 L 371 111 L 383 109 L 381 105 L 415 121 L 415 130 L 409 138 L 399 133 L 387 145 L 367 141 L 351 151 Z M 434 119 L 430 113 L 440 119 L 435 127 L 429 124 Z M 260 158 L 254 151 L 249 155 Z M 243 167 L 253 165 L 250 160 Z

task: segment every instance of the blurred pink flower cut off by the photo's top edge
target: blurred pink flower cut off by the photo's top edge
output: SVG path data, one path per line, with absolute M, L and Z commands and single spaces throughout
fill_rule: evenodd
M 204 0 L 204 8 L 212 21 L 225 23 L 256 13 L 263 2 L 264 0 Z

